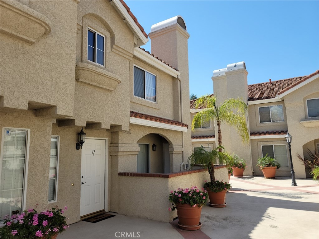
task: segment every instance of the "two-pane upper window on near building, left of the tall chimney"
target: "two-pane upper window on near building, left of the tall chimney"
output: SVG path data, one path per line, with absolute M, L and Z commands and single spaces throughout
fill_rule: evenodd
M 134 96 L 156 102 L 156 76 L 134 66 Z

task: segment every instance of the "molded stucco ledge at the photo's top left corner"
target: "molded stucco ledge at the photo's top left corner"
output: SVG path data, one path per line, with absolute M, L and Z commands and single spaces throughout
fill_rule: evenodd
M 1 1 L 0 6 L 1 33 L 34 44 L 51 32 L 48 18 L 28 6 L 18 1 Z

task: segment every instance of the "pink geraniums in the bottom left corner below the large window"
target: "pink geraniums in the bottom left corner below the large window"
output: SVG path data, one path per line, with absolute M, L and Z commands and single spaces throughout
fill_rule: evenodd
M 37 208 L 37 207 L 35 207 Z M 59 209 L 57 206 L 51 210 L 45 208 L 42 212 L 36 209 L 28 209 L 21 214 L 13 214 L 11 218 L 4 221 L 1 228 L 2 239 L 22 238 L 51 238 L 52 235 L 62 233 L 69 227 L 66 217 L 63 215 L 65 206 Z

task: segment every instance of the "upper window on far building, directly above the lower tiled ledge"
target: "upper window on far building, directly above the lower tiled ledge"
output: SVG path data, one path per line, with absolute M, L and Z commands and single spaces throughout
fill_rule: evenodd
M 259 122 L 283 122 L 284 111 L 282 105 L 271 105 L 266 107 L 259 107 Z

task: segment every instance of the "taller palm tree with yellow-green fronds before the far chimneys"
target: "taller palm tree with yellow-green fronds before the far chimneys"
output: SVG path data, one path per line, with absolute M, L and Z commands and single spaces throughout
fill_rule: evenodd
M 218 145 L 222 144 L 222 136 L 220 125 L 226 123 L 231 127 L 235 127 L 243 142 L 249 141 L 248 127 L 245 114 L 248 112 L 248 106 L 240 98 L 226 99 L 221 105 L 217 105 L 216 97 L 202 96 L 195 102 L 195 107 L 206 105 L 203 111 L 198 112 L 192 122 L 192 130 L 201 126 L 202 122 L 216 120 L 218 129 Z M 221 151 L 222 148 L 219 148 Z

